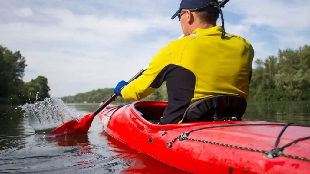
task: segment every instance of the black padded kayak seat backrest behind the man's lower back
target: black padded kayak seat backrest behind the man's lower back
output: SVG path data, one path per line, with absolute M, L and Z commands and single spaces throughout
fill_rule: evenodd
M 192 103 L 184 112 L 182 123 L 241 121 L 247 107 L 239 95 L 215 95 Z

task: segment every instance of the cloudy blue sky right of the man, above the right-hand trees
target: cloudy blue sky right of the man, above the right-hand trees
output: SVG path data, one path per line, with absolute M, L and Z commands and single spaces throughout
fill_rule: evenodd
M 239 24 L 250 26 L 250 38 L 265 42 L 264 48 L 271 48 L 267 52 L 272 54 L 279 48 L 309 44 L 309 9 L 310 1 L 306 0 L 232 0 L 226 6 L 228 12 L 239 15 Z

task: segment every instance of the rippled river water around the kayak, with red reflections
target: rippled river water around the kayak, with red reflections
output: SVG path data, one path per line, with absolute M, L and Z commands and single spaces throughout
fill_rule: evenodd
M 249 102 L 243 120 L 310 125 L 310 102 Z M 80 115 L 98 104 L 66 104 Z M 0 106 L 0 173 L 187 173 L 133 150 L 102 131 L 95 117 L 89 132 L 46 137 L 17 106 Z M 40 127 L 40 126 L 39 126 Z M 160 153 L 160 152 L 158 152 Z

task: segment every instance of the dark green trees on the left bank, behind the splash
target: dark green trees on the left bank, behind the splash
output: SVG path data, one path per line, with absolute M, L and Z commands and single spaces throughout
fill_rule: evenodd
M 23 81 L 26 66 L 20 51 L 13 52 L 0 45 L 0 104 L 33 103 L 50 97 L 46 77 Z

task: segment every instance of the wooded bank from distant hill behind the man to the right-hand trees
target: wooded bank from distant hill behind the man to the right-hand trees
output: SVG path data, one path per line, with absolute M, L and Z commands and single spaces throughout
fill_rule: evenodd
M 283 101 L 310 99 L 310 46 L 304 45 L 296 50 L 278 50 L 277 56 L 256 59 L 250 81 L 249 100 Z M 98 103 L 113 94 L 113 88 L 92 90 L 75 96 L 61 98 L 69 103 Z M 143 100 L 167 101 L 165 83 L 153 94 Z M 124 101 L 121 97 L 117 103 Z

